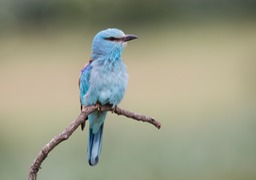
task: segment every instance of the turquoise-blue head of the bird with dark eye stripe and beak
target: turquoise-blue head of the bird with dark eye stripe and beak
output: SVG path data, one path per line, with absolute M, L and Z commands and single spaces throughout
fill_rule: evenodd
M 93 56 L 116 56 L 120 57 L 127 41 L 137 39 L 135 35 L 125 35 L 119 29 L 106 29 L 100 31 L 93 39 Z M 92 57 L 93 58 L 93 57 Z

